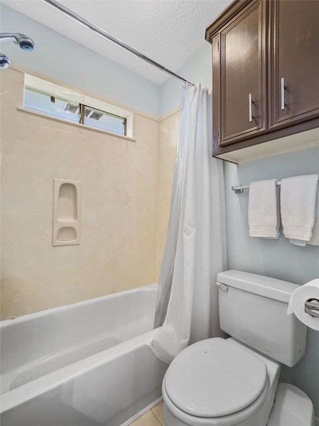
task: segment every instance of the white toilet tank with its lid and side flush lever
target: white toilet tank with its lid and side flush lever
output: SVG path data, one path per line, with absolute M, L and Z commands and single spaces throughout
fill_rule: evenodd
M 307 327 L 287 315 L 299 286 L 240 271 L 217 275 L 220 328 L 233 338 L 286 366 L 304 356 Z

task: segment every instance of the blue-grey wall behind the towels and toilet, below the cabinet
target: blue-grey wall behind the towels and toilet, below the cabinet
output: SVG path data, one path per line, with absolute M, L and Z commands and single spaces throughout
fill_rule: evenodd
M 296 284 L 319 277 L 319 247 L 298 247 L 278 240 L 248 235 L 248 191 L 235 194 L 232 185 L 254 180 L 319 173 L 319 148 L 277 155 L 239 165 L 225 163 L 228 268 L 279 278 Z M 283 367 L 281 381 L 300 387 L 312 399 L 319 416 L 319 333 L 308 329 L 307 351 L 293 368 Z

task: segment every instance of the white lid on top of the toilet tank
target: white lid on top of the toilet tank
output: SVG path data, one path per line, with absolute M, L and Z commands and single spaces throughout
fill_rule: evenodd
M 285 303 L 289 302 L 292 292 L 299 288 L 299 285 L 287 281 L 235 270 L 217 274 L 216 284 L 219 283 Z

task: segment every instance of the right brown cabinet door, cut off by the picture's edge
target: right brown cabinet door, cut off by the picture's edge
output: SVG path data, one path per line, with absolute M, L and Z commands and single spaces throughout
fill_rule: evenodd
M 270 2 L 270 130 L 319 116 L 319 1 Z

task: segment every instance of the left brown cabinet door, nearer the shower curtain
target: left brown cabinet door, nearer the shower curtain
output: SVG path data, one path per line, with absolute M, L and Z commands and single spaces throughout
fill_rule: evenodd
M 267 7 L 250 1 L 221 29 L 220 146 L 268 130 Z

